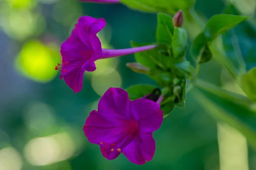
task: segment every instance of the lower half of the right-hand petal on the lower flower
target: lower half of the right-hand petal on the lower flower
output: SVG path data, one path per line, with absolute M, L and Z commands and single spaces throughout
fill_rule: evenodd
M 154 132 L 155 130 L 159 129 L 162 123 L 163 123 L 163 111 L 160 109 L 157 111 L 154 111 L 151 115 L 149 115 L 145 119 L 140 119 L 138 121 L 140 131 L 143 131 L 145 133 Z

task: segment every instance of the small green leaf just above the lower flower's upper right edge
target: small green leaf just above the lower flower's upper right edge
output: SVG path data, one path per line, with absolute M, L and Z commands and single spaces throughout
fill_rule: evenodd
M 154 91 L 157 88 L 154 85 L 133 85 L 126 91 L 128 92 L 130 100 L 140 99 Z

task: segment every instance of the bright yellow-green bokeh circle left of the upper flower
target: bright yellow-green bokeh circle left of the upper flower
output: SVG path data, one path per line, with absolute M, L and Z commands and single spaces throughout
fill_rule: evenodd
M 55 52 L 54 52 L 55 51 Z M 49 82 L 57 74 L 54 70 L 60 55 L 57 49 L 50 49 L 38 40 L 32 40 L 23 45 L 16 59 L 16 68 L 25 77 L 36 82 Z

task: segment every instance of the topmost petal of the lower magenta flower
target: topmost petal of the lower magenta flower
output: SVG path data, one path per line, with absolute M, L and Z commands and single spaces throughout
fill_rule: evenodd
M 98 111 L 113 119 L 133 119 L 131 101 L 122 88 L 109 88 L 99 100 Z

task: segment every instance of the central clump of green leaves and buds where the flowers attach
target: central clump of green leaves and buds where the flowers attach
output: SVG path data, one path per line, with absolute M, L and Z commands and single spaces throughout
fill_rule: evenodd
M 158 47 L 154 50 L 135 54 L 138 63 L 149 68 L 147 75 L 157 84 L 169 89 L 161 103 L 165 115 L 178 106 L 185 108 L 186 80 L 192 79 L 194 68 L 186 61 L 187 33 L 184 28 L 174 27 L 172 17 L 159 13 L 157 22 Z M 133 47 L 148 44 L 131 42 Z M 132 68 L 134 70 L 134 68 Z M 136 70 L 136 72 L 138 72 Z M 140 87 L 137 87 L 138 91 Z M 131 92 L 130 92 L 131 93 Z

